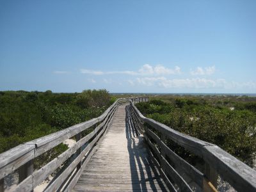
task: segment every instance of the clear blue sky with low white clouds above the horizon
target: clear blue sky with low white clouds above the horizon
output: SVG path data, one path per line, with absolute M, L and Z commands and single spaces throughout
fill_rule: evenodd
M 0 90 L 256 93 L 256 1 L 0 1 Z

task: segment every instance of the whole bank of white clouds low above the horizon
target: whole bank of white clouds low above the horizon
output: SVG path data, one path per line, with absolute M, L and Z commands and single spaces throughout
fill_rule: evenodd
M 88 79 L 88 83 L 103 83 L 103 84 L 122 84 L 127 86 L 146 86 L 148 88 L 162 89 L 218 89 L 218 90 L 234 90 L 234 89 L 250 89 L 256 90 L 256 83 L 253 81 L 236 82 L 227 81 L 225 78 L 214 78 L 216 75 L 215 65 L 209 67 L 196 67 L 190 69 L 189 72 L 183 72 L 179 66 L 173 68 L 165 67 L 164 65 L 142 65 L 138 70 L 93 70 L 82 68 L 79 70 L 81 74 L 86 76 L 102 76 L 102 81 L 95 81 L 93 78 Z M 66 71 L 56 71 L 56 74 L 67 74 Z M 122 76 L 120 76 L 122 75 Z M 125 76 L 124 76 L 125 75 Z M 109 78 L 110 77 L 110 78 Z M 122 81 L 113 81 L 112 78 L 123 77 Z M 99 78 L 98 78 L 99 79 Z

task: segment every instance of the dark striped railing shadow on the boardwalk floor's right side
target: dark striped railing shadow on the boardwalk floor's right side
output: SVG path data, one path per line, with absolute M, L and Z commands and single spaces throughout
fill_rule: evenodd
M 159 172 L 157 171 L 150 157 L 147 154 L 143 136 L 138 132 L 138 125 L 132 120 L 131 113 L 129 112 L 130 106 L 125 106 L 125 131 L 127 138 L 127 148 L 129 152 L 129 162 L 131 168 L 131 181 L 133 191 L 166 191 Z M 145 169 L 143 169 L 145 167 Z M 147 174 L 145 173 L 147 172 Z M 146 184 L 148 182 L 149 186 Z

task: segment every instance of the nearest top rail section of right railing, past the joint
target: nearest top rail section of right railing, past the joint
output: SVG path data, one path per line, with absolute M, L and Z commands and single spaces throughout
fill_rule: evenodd
M 256 171 L 218 146 L 205 146 L 204 159 L 237 191 L 256 191 Z

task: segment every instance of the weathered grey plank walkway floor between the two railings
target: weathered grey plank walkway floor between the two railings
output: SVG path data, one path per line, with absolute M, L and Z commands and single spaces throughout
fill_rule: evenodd
M 73 191 L 168 191 L 128 108 L 118 106 L 104 140 Z

